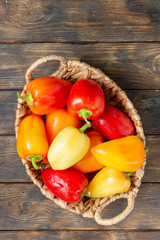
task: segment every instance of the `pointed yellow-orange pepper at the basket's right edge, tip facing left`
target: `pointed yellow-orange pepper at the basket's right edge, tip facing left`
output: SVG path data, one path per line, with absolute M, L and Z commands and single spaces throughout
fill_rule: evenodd
M 137 136 L 101 143 L 91 152 L 100 163 L 123 172 L 137 171 L 145 158 L 144 144 Z

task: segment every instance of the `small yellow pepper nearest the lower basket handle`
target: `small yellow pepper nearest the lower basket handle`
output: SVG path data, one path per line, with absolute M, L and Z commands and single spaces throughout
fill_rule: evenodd
M 128 191 L 130 185 L 130 180 L 123 172 L 105 167 L 91 180 L 87 193 L 94 198 L 108 197 Z

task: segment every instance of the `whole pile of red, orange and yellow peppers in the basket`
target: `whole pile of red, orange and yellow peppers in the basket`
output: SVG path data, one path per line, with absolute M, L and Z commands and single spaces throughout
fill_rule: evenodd
M 55 196 L 79 202 L 84 196 L 129 190 L 130 175 L 141 168 L 145 148 L 128 116 L 106 105 L 97 82 L 43 77 L 17 96 L 32 112 L 18 129 L 18 155 L 35 171 L 46 164 L 41 177 Z

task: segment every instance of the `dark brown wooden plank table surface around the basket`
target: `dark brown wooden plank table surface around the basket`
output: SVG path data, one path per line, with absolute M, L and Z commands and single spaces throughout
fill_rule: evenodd
M 80 59 L 112 78 L 141 116 L 149 148 L 135 208 L 99 226 L 46 199 L 16 153 L 16 92 L 39 57 Z M 35 72 L 46 76 L 58 62 Z M 160 1 L 0 1 L 0 239 L 160 239 Z M 115 202 L 103 216 L 125 207 Z

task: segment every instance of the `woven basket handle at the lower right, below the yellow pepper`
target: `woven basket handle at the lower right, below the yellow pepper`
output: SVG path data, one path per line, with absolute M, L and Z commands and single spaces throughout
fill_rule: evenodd
M 109 205 L 111 202 L 114 202 L 115 200 L 117 199 L 120 199 L 120 198 L 127 198 L 127 207 L 124 209 L 123 212 L 121 212 L 119 215 L 113 217 L 113 218 L 110 218 L 110 219 L 102 219 L 101 217 L 101 212 L 102 210 L 107 206 Z M 132 210 L 133 210 L 133 207 L 134 207 L 134 196 L 132 195 L 132 193 L 128 194 L 127 196 L 121 196 L 121 197 L 117 197 L 117 198 L 114 198 L 113 200 L 109 200 L 107 201 L 104 205 L 101 205 L 97 208 L 96 212 L 95 212 L 95 215 L 94 215 L 94 219 L 95 221 L 100 224 L 100 225 L 105 225 L 105 226 L 111 226 L 111 225 L 114 225 L 120 221 L 122 221 Z

